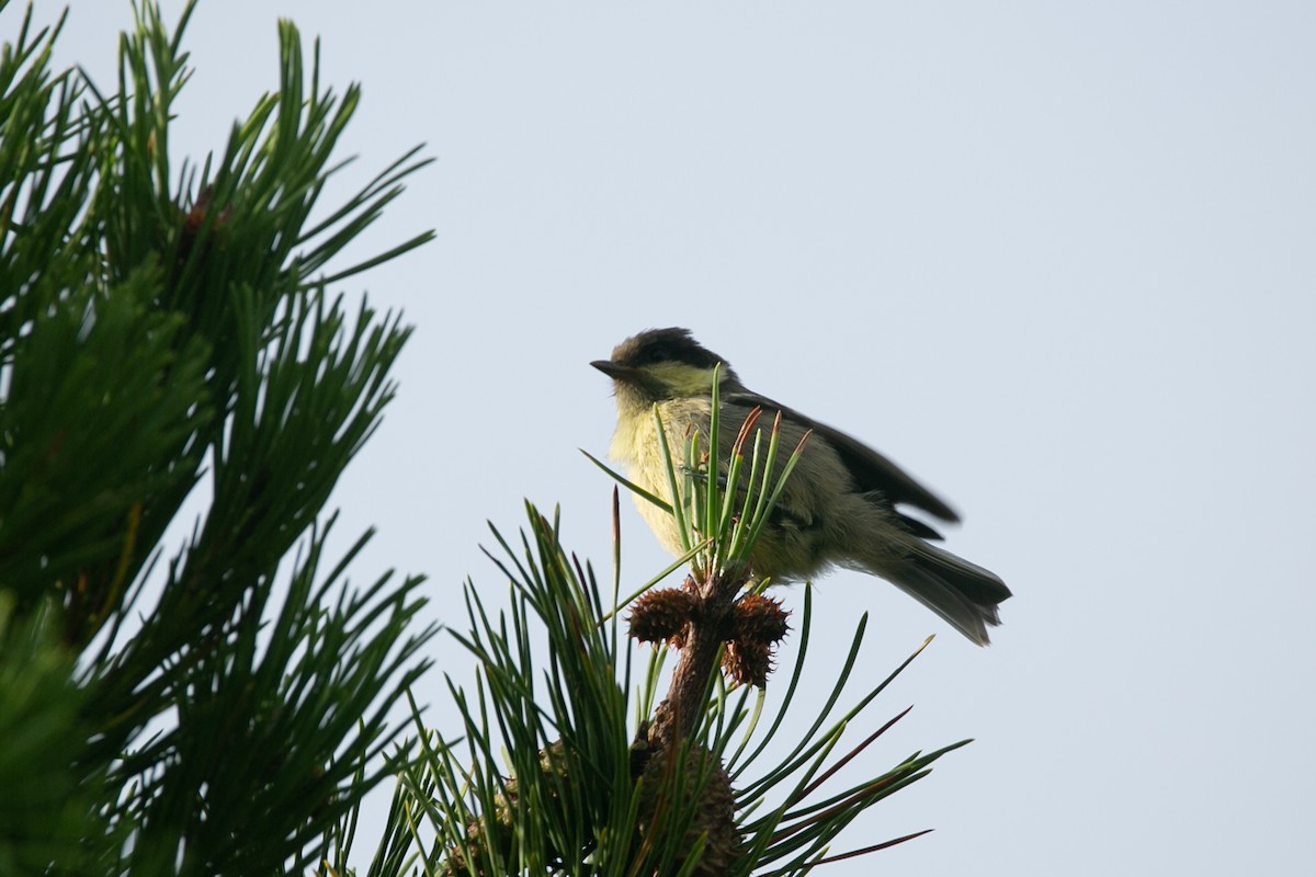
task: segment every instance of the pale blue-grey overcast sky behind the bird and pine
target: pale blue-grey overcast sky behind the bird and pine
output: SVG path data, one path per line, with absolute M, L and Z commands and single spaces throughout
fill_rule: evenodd
M 522 497 L 607 569 L 587 363 L 690 326 L 945 496 L 948 547 L 1016 594 L 979 650 L 821 580 L 819 685 L 861 613 L 869 678 L 938 634 L 871 707 L 915 703 L 869 767 L 976 739 L 837 851 L 934 834 L 828 874 L 1316 861 L 1316 5 L 203 0 L 179 158 L 276 85 L 279 16 L 363 83 L 347 179 L 438 159 L 367 243 L 438 241 L 347 287 L 416 325 L 334 498 L 380 529 L 358 581 L 425 572 L 461 625 L 467 575 L 505 593 L 478 544 Z M 129 22 L 74 0 L 63 60 L 111 85 Z M 624 515 L 640 582 L 667 557 Z M 438 673 L 420 697 L 451 721 Z

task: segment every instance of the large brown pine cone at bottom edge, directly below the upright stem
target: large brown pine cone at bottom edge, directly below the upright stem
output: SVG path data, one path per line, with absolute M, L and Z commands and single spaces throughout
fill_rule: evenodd
M 675 751 L 669 752 L 675 755 Z M 691 877 L 725 877 L 745 855 L 744 839 L 736 827 L 736 795 L 730 777 L 717 756 L 703 747 L 687 753 L 684 776 L 670 776 L 671 768 L 670 757 L 654 757 L 645 768 L 640 798 L 641 831 L 655 830 L 653 822 L 659 814 L 667 824 L 679 824 L 686 814 L 691 814 L 671 873 L 684 868 L 700 838 L 705 838 L 699 863 L 688 873 Z M 683 799 L 665 799 L 672 794 Z M 691 799 L 692 795 L 697 797 Z M 655 845 L 663 841 L 657 839 Z

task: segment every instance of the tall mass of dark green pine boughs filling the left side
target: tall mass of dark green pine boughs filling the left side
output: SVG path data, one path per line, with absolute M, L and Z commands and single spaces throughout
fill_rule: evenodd
M 0 873 L 305 873 L 428 665 L 421 580 L 350 585 L 325 515 L 409 331 L 325 287 L 429 235 L 326 271 L 425 162 L 325 204 L 359 92 L 282 24 L 278 91 L 175 174 L 191 5 L 138 8 L 113 89 L 7 7 Z

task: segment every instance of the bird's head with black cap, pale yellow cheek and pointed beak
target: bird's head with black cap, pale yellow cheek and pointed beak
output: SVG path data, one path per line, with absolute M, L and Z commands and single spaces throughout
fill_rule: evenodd
M 645 330 L 617 344 L 611 359 L 590 364 L 613 380 L 619 405 L 649 408 L 666 400 L 708 396 L 719 364 L 721 387 L 740 385 L 726 360 L 700 346 L 688 329 Z

